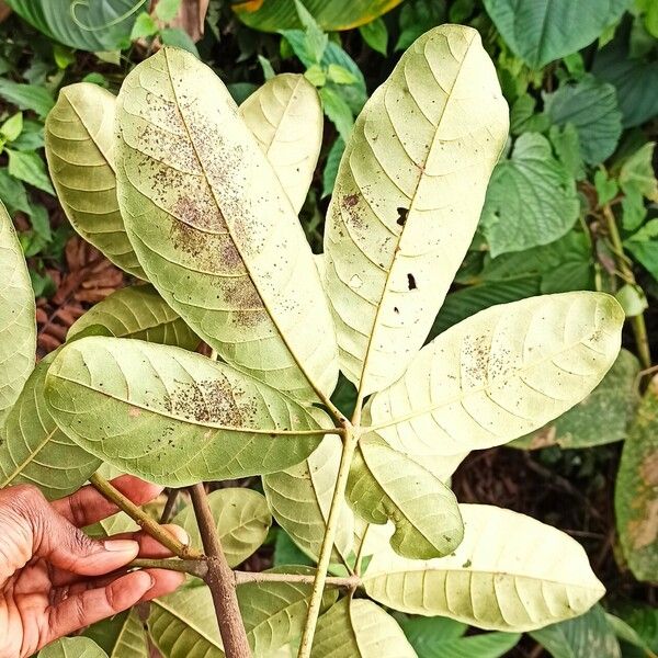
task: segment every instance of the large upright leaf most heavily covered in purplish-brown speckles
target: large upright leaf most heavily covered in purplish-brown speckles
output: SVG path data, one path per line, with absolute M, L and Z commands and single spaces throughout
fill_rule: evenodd
M 330 393 L 336 339 L 310 248 L 222 81 L 163 48 L 126 77 L 117 116 L 122 214 L 164 300 L 229 363 L 306 399 Z

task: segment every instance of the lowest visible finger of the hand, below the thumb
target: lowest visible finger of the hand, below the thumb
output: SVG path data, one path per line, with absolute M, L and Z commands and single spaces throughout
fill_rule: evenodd
M 156 578 L 147 571 L 134 571 L 106 587 L 69 595 L 49 609 L 48 637 L 44 644 L 127 610 L 155 585 Z

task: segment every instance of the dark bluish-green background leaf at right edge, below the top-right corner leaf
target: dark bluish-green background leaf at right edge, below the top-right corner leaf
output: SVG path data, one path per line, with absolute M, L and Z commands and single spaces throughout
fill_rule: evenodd
M 658 66 L 631 57 L 626 42 L 627 32 L 621 31 L 595 54 L 592 72 L 614 84 L 624 127 L 632 127 L 658 114 Z

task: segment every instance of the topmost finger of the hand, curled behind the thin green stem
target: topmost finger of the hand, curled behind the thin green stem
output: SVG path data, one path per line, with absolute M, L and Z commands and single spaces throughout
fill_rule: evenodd
M 144 504 L 162 491 L 159 485 L 151 485 L 132 475 L 114 478 L 112 485 L 135 504 Z M 55 500 L 52 504 L 59 514 L 78 527 L 91 525 L 118 512 L 118 508 L 91 485 L 66 498 Z

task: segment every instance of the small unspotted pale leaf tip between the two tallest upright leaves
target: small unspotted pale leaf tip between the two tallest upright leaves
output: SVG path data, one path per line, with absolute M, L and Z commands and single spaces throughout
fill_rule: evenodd
M 240 115 L 298 213 L 322 146 L 322 109 L 315 87 L 298 73 L 268 80 L 241 105 Z

